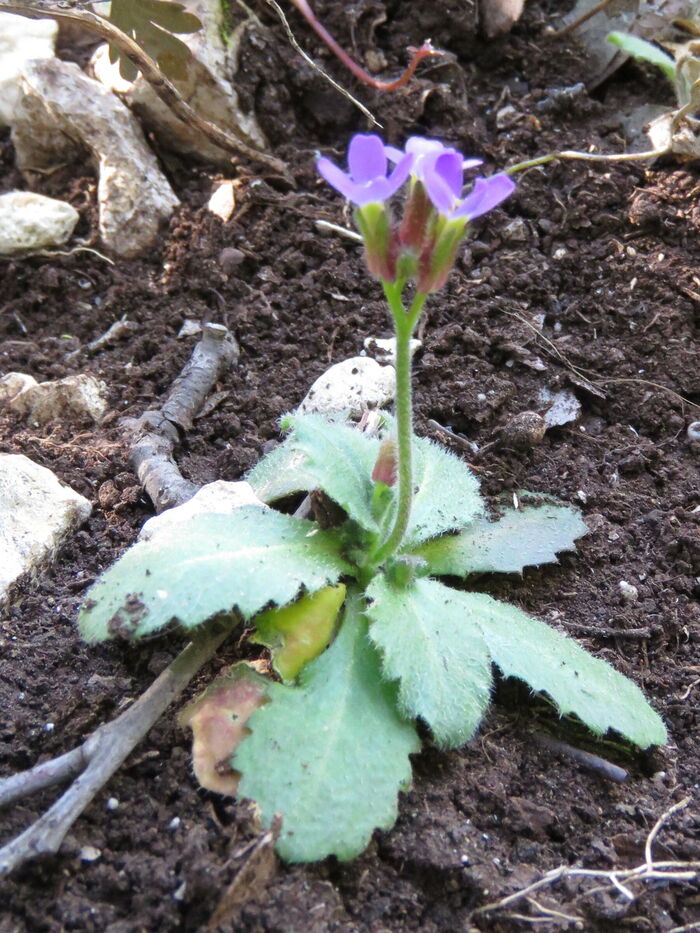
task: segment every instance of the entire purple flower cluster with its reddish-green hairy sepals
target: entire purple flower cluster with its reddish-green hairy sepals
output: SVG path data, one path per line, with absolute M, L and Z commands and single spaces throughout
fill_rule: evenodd
M 384 282 L 415 279 L 419 293 L 437 291 L 454 265 L 467 224 L 497 207 L 515 190 L 506 174 L 477 178 L 462 197 L 464 172 L 481 165 L 436 139 L 412 136 L 405 151 L 375 134 L 350 141 L 348 171 L 319 158 L 319 173 L 351 201 L 370 272 Z M 388 201 L 409 182 L 403 217 L 395 222 Z

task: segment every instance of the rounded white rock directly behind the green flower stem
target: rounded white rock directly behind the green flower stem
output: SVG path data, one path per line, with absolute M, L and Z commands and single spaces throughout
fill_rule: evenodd
M 319 376 L 297 410 L 300 415 L 333 411 L 360 415 L 365 408 L 388 405 L 395 391 L 393 366 L 380 366 L 368 356 L 354 356 Z

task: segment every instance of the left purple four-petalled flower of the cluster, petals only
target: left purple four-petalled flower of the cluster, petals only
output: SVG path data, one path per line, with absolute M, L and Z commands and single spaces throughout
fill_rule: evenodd
M 357 133 L 348 148 L 349 172 L 343 172 L 330 159 L 317 160 L 316 168 L 329 185 L 358 207 L 387 201 L 406 181 L 413 164 L 410 153 L 401 153 L 387 177 L 387 148 L 379 136 Z

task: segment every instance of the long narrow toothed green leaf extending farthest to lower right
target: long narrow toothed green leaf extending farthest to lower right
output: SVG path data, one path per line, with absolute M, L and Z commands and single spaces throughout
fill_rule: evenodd
M 663 745 L 666 727 L 627 677 L 566 635 L 483 593 L 458 593 L 483 632 L 495 664 L 547 693 L 562 715 L 575 713 L 599 735 L 615 729 L 635 745 Z

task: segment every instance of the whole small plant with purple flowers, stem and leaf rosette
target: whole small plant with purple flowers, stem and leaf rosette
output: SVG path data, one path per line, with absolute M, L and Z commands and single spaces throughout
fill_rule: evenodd
M 556 561 L 586 527 L 569 506 L 523 494 L 498 521 L 456 456 L 412 430 L 410 340 L 444 284 L 471 220 L 514 190 L 504 174 L 435 140 L 405 151 L 375 135 L 350 143 L 349 171 L 321 175 L 355 205 L 370 271 L 396 332 L 396 414 L 380 437 L 341 420 L 288 417 L 284 442 L 252 471 L 265 502 L 309 493 L 315 520 L 267 505 L 199 515 L 185 534 L 131 548 L 93 586 L 80 626 L 89 641 L 141 638 L 171 622 L 206 631 L 234 614 L 267 645 L 277 678 L 238 664 L 188 707 L 205 786 L 256 801 L 280 854 L 357 855 L 389 828 L 411 778 L 416 720 L 442 748 L 475 733 L 495 664 L 546 693 L 593 732 L 641 747 L 666 730 L 641 691 L 572 639 L 441 577 L 521 572 Z M 396 218 L 390 202 L 407 189 Z M 408 301 L 404 303 L 404 296 Z

